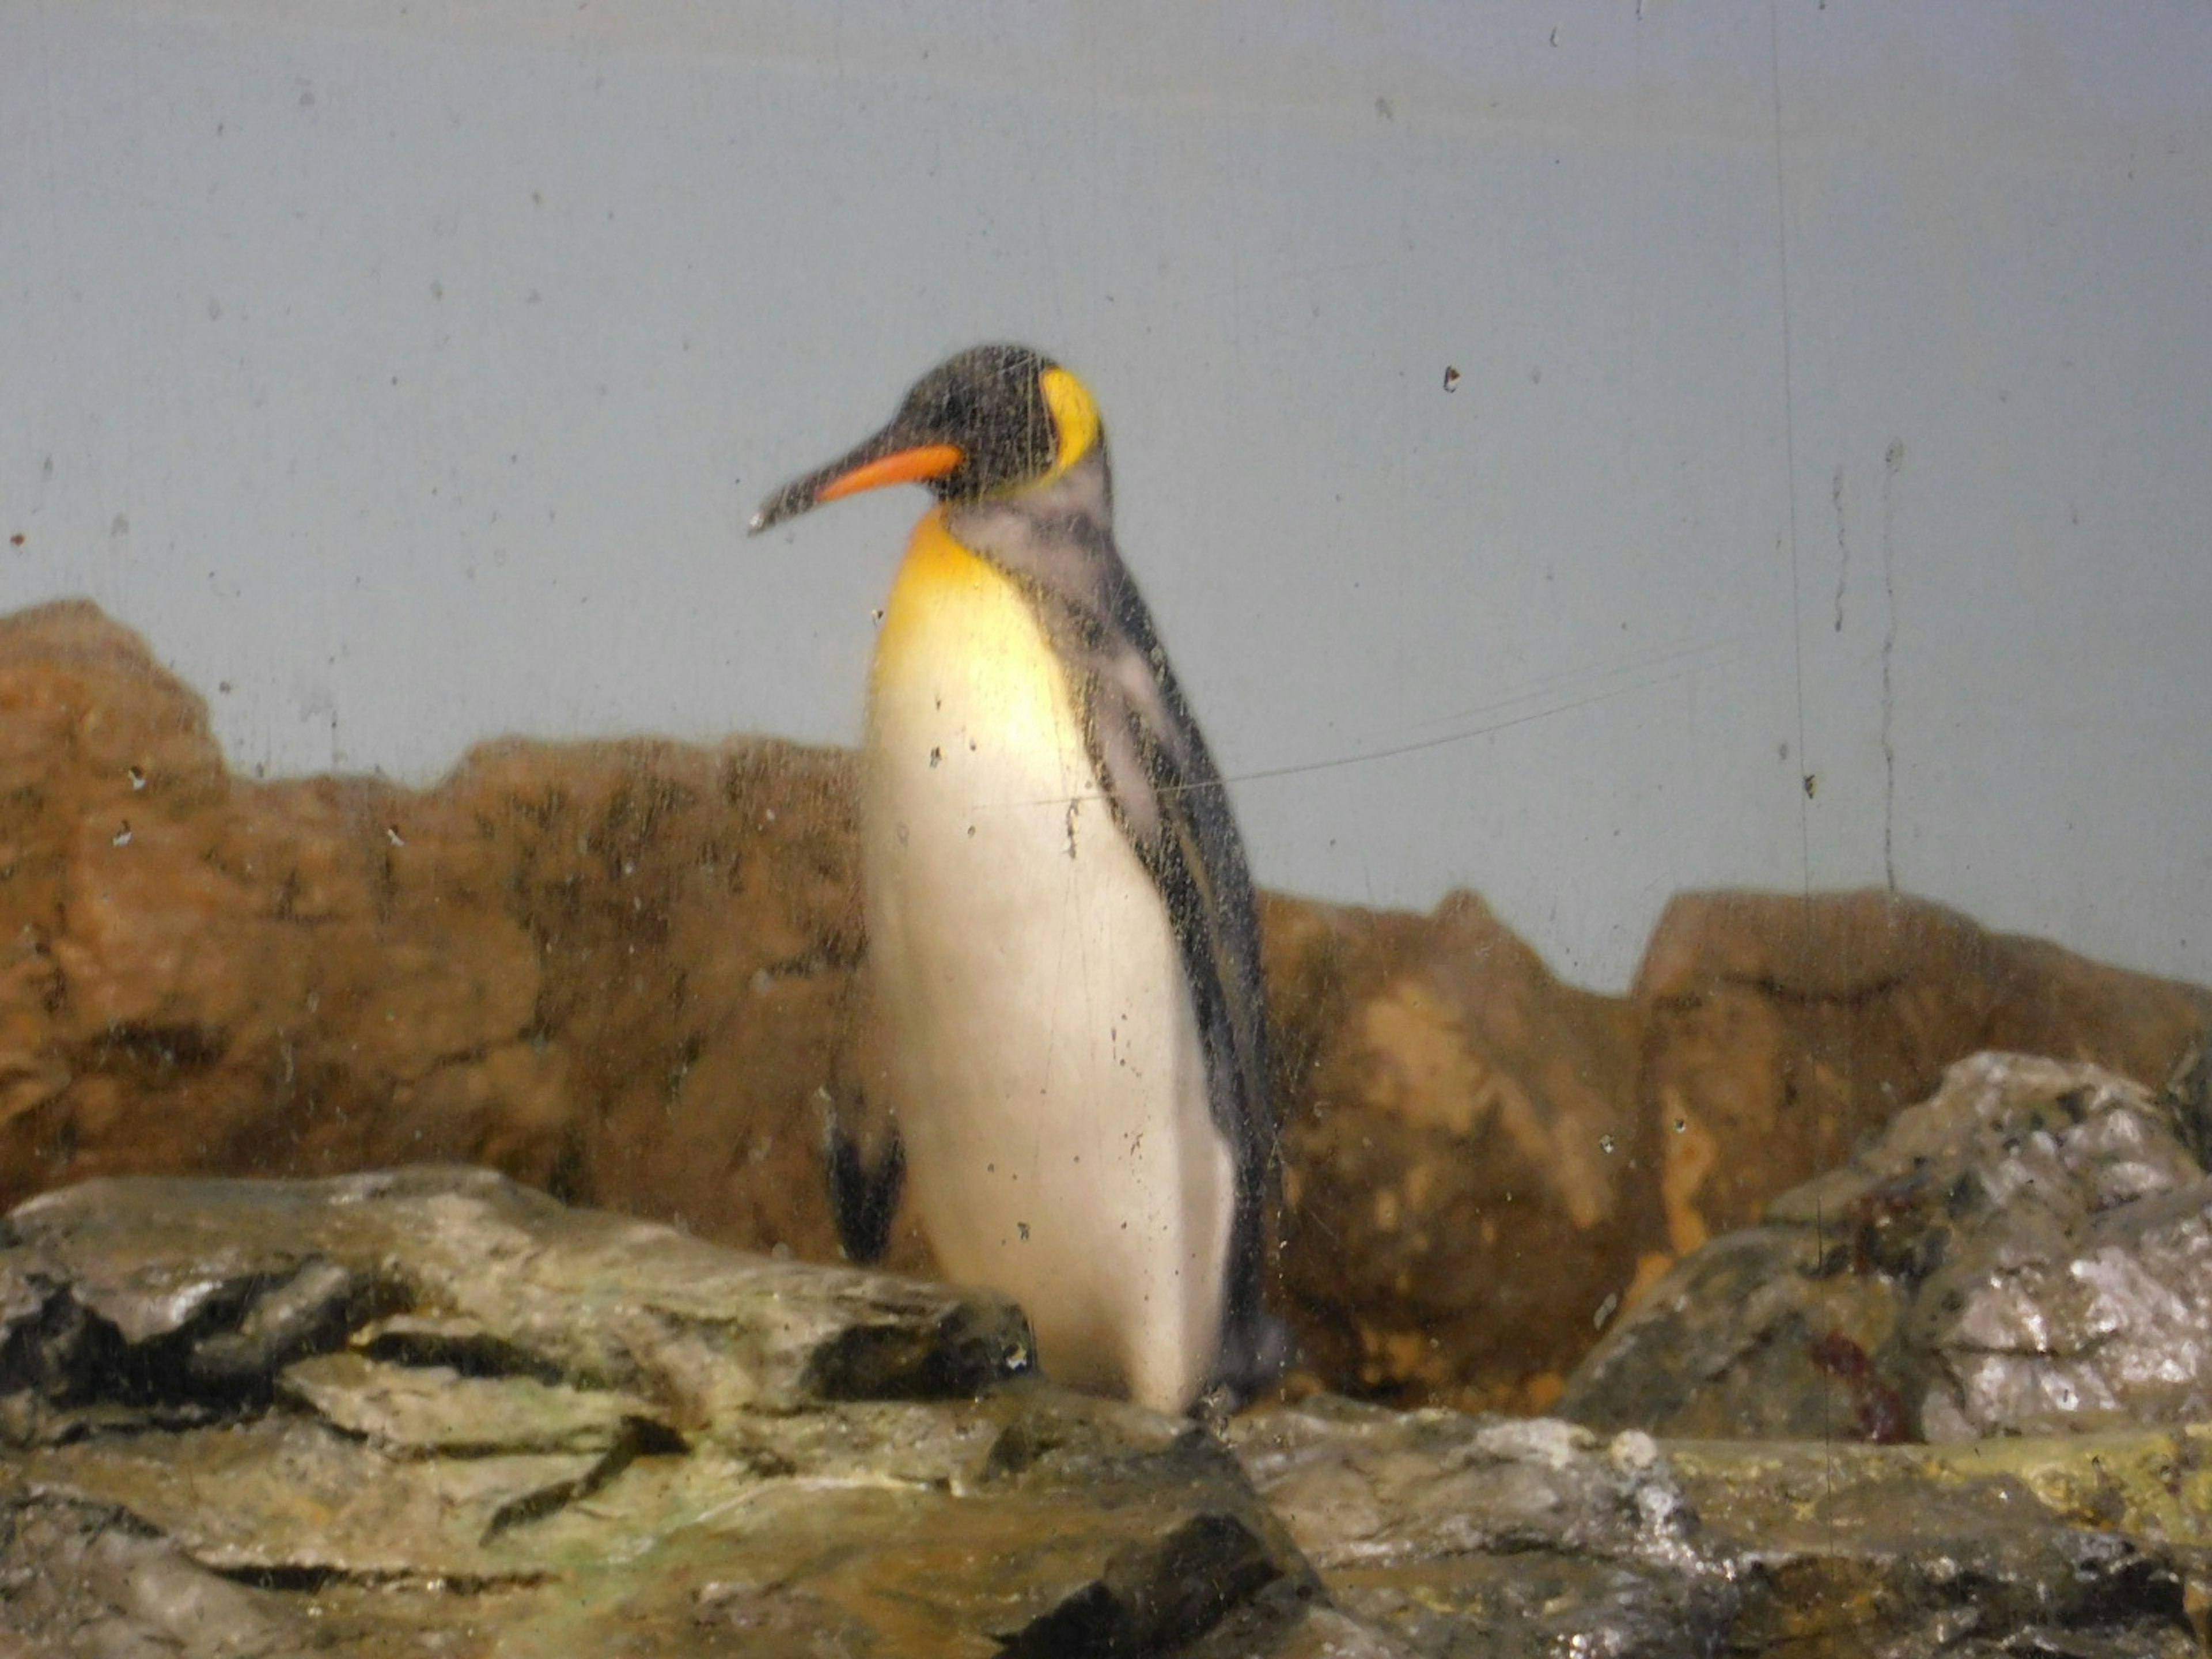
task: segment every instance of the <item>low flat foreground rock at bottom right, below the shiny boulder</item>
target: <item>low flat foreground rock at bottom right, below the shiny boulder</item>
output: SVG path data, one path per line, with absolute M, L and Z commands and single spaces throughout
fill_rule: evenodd
M 1314 1400 L 1230 1436 L 1334 1601 L 1292 1635 L 1343 1652 L 2183 1659 L 2212 1588 L 2205 1431 L 1661 1444 Z

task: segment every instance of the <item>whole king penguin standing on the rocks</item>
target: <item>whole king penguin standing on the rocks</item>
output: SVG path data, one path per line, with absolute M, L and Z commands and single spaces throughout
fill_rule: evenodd
M 962 352 L 752 531 L 898 482 L 936 495 L 883 613 L 860 752 L 898 1139 L 874 1172 L 832 1144 L 841 1232 L 880 1250 L 902 1166 L 945 1272 L 1024 1307 L 1046 1376 L 1161 1411 L 1237 1402 L 1287 1358 L 1263 1307 L 1259 918 L 1115 546 L 1097 403 L 1026 347 Z

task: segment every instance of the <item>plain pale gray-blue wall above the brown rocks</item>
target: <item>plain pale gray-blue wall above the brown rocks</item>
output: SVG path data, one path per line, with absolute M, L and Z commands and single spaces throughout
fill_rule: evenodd
M 0 608 L 239 768 L 852 739 L 914 502 L 743 518 L 1013 336 L 1267 885 L 2212 978 L 2201 7 L 422 11 L 0 0 Z

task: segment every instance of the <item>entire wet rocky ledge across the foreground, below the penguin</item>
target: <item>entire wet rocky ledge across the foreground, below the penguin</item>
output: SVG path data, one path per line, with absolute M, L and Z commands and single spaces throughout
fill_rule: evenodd
M 2203 1429 L 1663 1442 L 1029 1374 L 998 1298 L 502 1177 L 106 1179 L 0 1250 L 0 1652 L 2197 1655 Z

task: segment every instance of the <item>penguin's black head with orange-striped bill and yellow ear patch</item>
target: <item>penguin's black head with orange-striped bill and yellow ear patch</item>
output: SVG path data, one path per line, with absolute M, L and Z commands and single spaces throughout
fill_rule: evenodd
M 880 484 L 929 484 L 940 502 L 1006 495 L 1097 445 L 1099 411 L 1082 380 L 1026 345 L 975 345 L 916 380 L 874 438 L 770 495 L 752 533 Z

